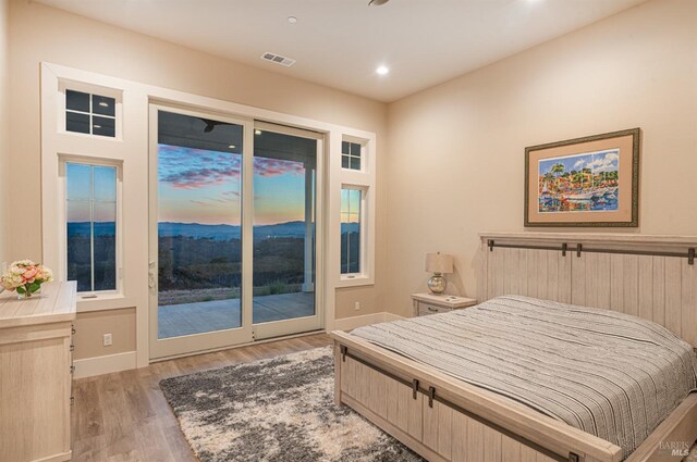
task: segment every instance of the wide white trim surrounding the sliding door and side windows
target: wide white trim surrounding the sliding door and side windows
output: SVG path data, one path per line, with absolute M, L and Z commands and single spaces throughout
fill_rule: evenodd
M 270 123 L 319 132 L 327 139 L 326 149 L 326 214 L 325 229 L 325 328 L 334 329 L 335 290 L 341 287 L 374 284 L 375 278 L 375 172 L 376 135 L 371 132 L 354 129 L 342 125 L 289 115 L 281 112 L 237 104 L 215 98 L 201 97 L 184 91 L 161 88 L 152 85 L 110 77 L 81 71 L 59 64 L 41 63 L 41 226 L 44 263 L 49 267 L 60 266 L 61 240 L 59 229 L 62 226 L 59 210 L 60 190 L 59 153 L 90 155 L 96 159 L 122 162 L 123 175 L 123 241 L 122 287 L 123 294 L 113 299 L 99 301 L 82 300 L 77 310 L 102 311 L 109 309 L 135 308 L 136 310 L 136 363 L 138 367 L 149 364 L 149 289 L 148 289 L 148 117 L 151 103 L 166 103 L 182 108 L 217 111 L 235 117 L 249 117 Z M 84 85 L 89 92 L 103 92 L 105 89 L 120 95 L 117 104 L 117 138 L 83 135 L 65 132 L 65 99 L 60 98 L 60 85 Z M 71 87 L 77 90 L 81 87 Z M 94 89 L 94 88 L 98 88 Z M 61 120 L 62 117 L 62 120 Z M 62 127 L 62 128 L 61 128 Z M 355 138 L 365 141 L 366 162 L 363 171 L 342 173 L 341 141 Z M 365 166 L 364 166 L 365 165 Z M 341 280 L 340 251 L 341 198 L 338 192 L 342 184 L 365 185 L 367 195 L 367 252 L 365 277 Z M 132 185 L 135 185 L 133 187 Z M 138 186 L 142 185 L 142 186 Z M 143 190 L 146 192 L 143 192 Z M 127 225 L 127 226 L 125 226 Z M 321 303 L 322 301 L 320 301 Z

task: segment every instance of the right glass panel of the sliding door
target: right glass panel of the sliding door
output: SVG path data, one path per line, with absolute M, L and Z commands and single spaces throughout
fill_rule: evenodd
M 266 329 L 269 336 L 319 328 L 315 286 L 321 141 L 315 134 L 279 132 L 265 125 L 254 136 L 253 320 L 255 325 L 277 324 Z M 282 327 L 298 319 L 306 322 Z M 267 336 L 262 330 L 255 327 L 255 337 Z

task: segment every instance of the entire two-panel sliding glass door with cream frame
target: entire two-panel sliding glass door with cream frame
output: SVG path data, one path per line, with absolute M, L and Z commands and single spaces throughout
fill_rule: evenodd
M 320 328 L 320 137 L 157 105 L 150 126 L 150 357 Z

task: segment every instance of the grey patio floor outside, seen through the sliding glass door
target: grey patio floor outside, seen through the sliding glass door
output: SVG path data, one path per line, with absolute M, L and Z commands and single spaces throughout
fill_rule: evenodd
M 255 324 L 313 314 L 315 314 L 314 292 L 254 297 Z M 240 327 L 240 299 L 167 304 L 159 307 L 158 317 L 158 338 Z

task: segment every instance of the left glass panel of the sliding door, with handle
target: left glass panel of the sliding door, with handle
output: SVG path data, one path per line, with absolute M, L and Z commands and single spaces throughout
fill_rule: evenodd
M 243 123 L 157 110 L 151 170 L 152 357 L 219 348 L 243 326 Z M 155 248 L 155 250 L 152 249 Z M 155 276 L 156 265 L 157 273 Z M 155 333 L 151 333 L 154 335 Z M 155 344 L 155 346 L 152 346 Z

